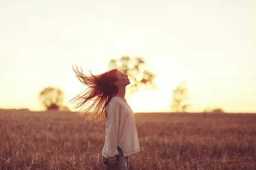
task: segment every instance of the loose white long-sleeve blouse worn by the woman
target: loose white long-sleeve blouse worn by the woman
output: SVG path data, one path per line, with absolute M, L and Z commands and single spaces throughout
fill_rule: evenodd
M 102 156 L 108 158 L 118 155 L 117 145 L 124 156 L 140 152 L 134 112 L 127 102 L 121 97 L 113 97 L 106 111 L 108 119 Z

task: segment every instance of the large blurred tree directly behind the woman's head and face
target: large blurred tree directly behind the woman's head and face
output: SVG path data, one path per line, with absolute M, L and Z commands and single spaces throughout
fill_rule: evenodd
M 145 61 L 141 57 L 131 59 L 130 57 L 121 57 L 119 60 L 111 59 L 108 65 L 109 69 L 117 68 L 128 75 L 131 84 L 128 86 L 128 94 L 131 95 L 140 89 L 156 89 L 154 84 L 155 74 L 149 71 Z

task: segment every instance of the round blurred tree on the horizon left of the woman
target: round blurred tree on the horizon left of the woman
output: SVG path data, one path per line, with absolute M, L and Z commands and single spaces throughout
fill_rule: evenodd
M 59 110 L 63 102 L 63 92 L 59 88 L 47 87 L 39 93 L 39 100 L 47 110 Z

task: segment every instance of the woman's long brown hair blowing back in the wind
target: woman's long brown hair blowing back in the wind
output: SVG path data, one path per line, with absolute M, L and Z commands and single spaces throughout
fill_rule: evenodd
M 107 119 L 106 107 L 112 97 L 117 93 L 118 89 L 114 82 L 117 80 L 117 69 L 111 71 L 93 75 L 91 71 L 89 76 L 83 74 L 82 68 L 79 71 L 78 66 L 73 70 L 76 73 L 76 77 L 80 82 L 86 85 L 84 91 L 77 94 L 75 98 L 71 99 L 72 103 L 76 103 L 75 108 L 80 108 L 79 112 L 83 110 L 80 115 L 84 116 L 90 112 L 90 116 L 87 119 L 95 119 L 94 122 L 104 122 Z

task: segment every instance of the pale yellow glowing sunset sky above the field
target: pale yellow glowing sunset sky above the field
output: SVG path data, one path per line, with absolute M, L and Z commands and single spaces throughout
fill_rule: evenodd
M 0 108 L 43 110 L 47 86 L 73 108 L 86 87 L 72 65 L 101 74 L 129 56 L 157 75 L 156 91 L 131 96 L 134 112 L 169 111 L 186 79 L 189 112 L 256 113 L 255 8 L 255 0 L 0 0 Z

